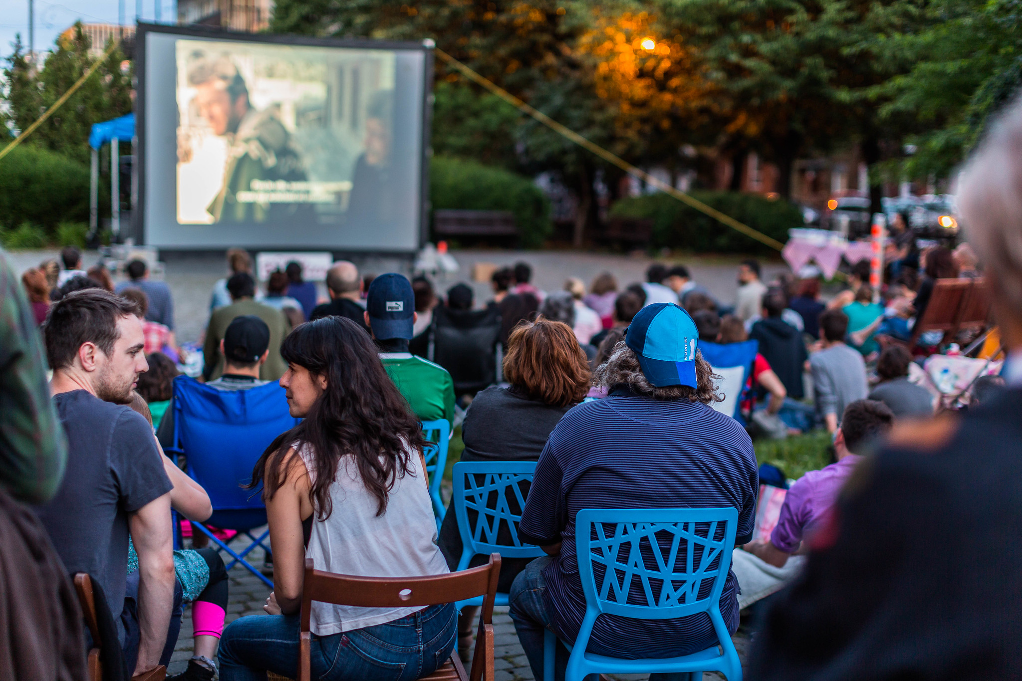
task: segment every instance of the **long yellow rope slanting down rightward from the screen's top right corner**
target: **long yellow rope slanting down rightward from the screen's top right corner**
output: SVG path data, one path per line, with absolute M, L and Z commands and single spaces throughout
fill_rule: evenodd
M 475 72 L 474 70 L 472 70 L 471 68 L 469 68 L 468 66 L 466 66 L 462 62 L 458 61 L 457 59 L 455 59 L 454 57 L 452 57 L 450 54 L 448 54 L 444 50 L 439 49 L 438 47 L 434 48 L 434 50 L 436 52 L 436 55 L 440 59 L 443 59 L 446 63 L 450 64 L 451 66 L 453 66 L 454 68 L 456 68 L 458 71 L 460 71 L 462 74 L 462 76 L 464 76 L 465 78 L 469 79 L 470 81 L 472 81 L 474 83 L 478 83 L 479 85 L 481 85 L 483 88 L 485 88 L 490 92 L 494 93 L 495 95 L 497 95 L 498 97 L 500 97 L 504 101 L 506 101 L 509 104 L 511 104 L 512 106 L 516 107 L 518 110 L 523 111 L 524 113 L 527 113 L 528 115 L 532 116 L 533 118 L 536 118 L 537 120 L 539 120 L 543 125 L 547 126 L 548 128 L 550 128 L 554 132 L 559 133 L 560 135 L 562 135 L 562 136 L 566 137 L 567 139 L 571 140 L 572 142 L 574 142 L 575 144 L 577 144 L 582 148 L 588 149 L 589 151 L 592 151 L 594 154 L 596 154 L 600 158 L 602 158 L 602 159 L 604 159 L 604 160 L 606 160 L 606 161 L 608 161 L 610 163 L 613 163 L 614 165 L 616 165 L 617 167 L 621 168 L 622 171 L 624 171 L 629 175 L 631 175 L 631 176 L 633 176 L 635 178 L 638 178 L 640 180 L 645 181 L 647 184 L 650 184 L 650 185 L 656 187 L 657 189 L 659 189 L 660 191 L 662 191 L 662 192 L 664 192 L 666 194 L 669 194 L 670 196 L 675 197 L 679 201 L 682 201 L 683 203 L 686 203 L 686 204 L 692 206 L 696 210 L 698 210 L 698 211 L 700 211 L 702 213 L 705 213 L 705 214 L 709 215 L 710 217 L 712 217 L 712 218 L 714 218 L 714 220 L 716 220 L 716 221 L 718 221 L 721 223 L 724 223 L 725 225 L 727 225 L 731 229 L 736 230 L 738 232 L 741 232 L 742 234 L 744 234 L 747 237 L 755 239 L 756 241 L 758 241 L 760 243 L 763 243 L 763 244 L 766 244 L 771 248 L 775 248 L 777 250 L 781 250 L 782 248 L 784 248 L 784 244 L 782 244 L 777 239 L 773 239 L 773 238 L 766 236 L 765 234 L 763 234 L 762 232 L 758 232 L 756 230 L 753 230 L 748 225 L 744 225 L 744 224 L 738 222 L 737 220 L 735 220 L 731 215 L 727 215 L 727 214 L 721 212 L 719 210 L 716 210 L 715 208 L 712 208 L 712 207 L 706 205 L 702 201 L 700 201 L 698 199 L 692 198 L 691 196 L 689 196 L 685 192 L 683 192 L 681 190 L 678 190 L 678 189 L 675 189 L 673 187 L 671 187 L 667 183 L 662 182 L 661 180 L 658 180 L 658 179 L 654 178 L 653 176 L 651 176 L 649 173 L 646 173 L 645 171 L 636 167 L 632 163 L 629 163 L 628 161 L 625 161 L 620 156 L 617 156 L 616 154 L 611 153 L 610 151 L 607 151 L 603 147 L 590 142 L 589 140 L 587 140 L 585 137 L 583 137 L 578 133 L 574 132 L 573 130 L 571 130 L 569 128 L 566 128 L 566 127 L 562 126 L 561 124 L 557 123 L 556 120 L 554 120 L 553 118 L 551 118 L 550 116 L 548 116 L 543 111 L 538 111 L 537 109 L 532 108 L 531 106 L 529 106 L 525 102 L 521 101 L 520 99 L 518 99 L 517 97 L 515 97 L 514 95 L 512 95 L 507 90 L 504 90 L 503 88 L 499 87 L 498 85 L 496 85 L 492 81 L 490 81 L 490 80 L 483 78 L 482 76 L 480 76 L 479 74 Z

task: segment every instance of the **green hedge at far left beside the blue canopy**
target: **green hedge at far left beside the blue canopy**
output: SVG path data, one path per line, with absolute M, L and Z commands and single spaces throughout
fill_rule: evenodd
M 108 196 L 108 194 L 107 194 Z M 89 222 L 89 166 L 31 144 L 0 159 L 0 227 Z

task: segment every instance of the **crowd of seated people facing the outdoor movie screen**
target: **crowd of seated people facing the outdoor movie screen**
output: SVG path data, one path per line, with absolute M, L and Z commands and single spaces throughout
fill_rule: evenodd
M 923 251 L 918 293 L 911 267 L 901 263 L 880 304 L 860 264 L 849 277 L 852 288 L 825 305 L 817 276 L 764 283 L 758 262 L 745 260 L 736 304 L 724 307 L 681 265 L 654 263 L 646 282 L 621 291 L 612 276 L 601 275 L 589 293 L 577 279 L 546 293 L 531 284 L 531 269 L 518 263 L 494 273 L 493 301 L 477 309 L 464 284 L 437 295 L 428 279 L 388 273 L 367 285 L 354 263 L 340 261 L 327 274 L 329 302 L 314 307 L 315 284 L 301 280 L 300 267 L 272 273 L 262 295 L 247 254 L 234 252 L 234 274 L 223 283 L 229 300 L 212 305 L 201 380 L 223 391 L 279 381 L 290 415 L 303 421 L 263 454 L 251 483 L 253 490 L 263 485 L 274 549 L 267 564 L 274 590 L 265 607 L 272 617 L 241 618 L 224 629 L 223 562 L 197 537 L 195 548 L 174 552 L 168 529 L 172 508 L 194 522 L 212 513 L 205 491 L 162 452 L 174 438 L 178 348 L 173 318 L 164 317 L 172 312 L 152 313 L 152 302 L 165 293 L 169 299 L 169 289 L 151 282 L 136 260 L 128 266 L 131 281 L 113 294 L 108 282 L 82 270 L 80 252 L 65 255 L 72 274 L 56 295 L 45 269 L 22 278 L 32 319 L 43 320 L 52 401 L 68 445 L 62 482 L 36 512 L 67 571 L 96 580 L 130 670 L 168 663 L 184 606 L 192 604 L 194 656 L 179 676 L 189 680 L 214 678 L 218 667 L 223 679 L 293 675 L 307 556 L 320 570 L 353 575 L 428 576 L 457 568 L 456 516 L 449 509 L 437 529 L 425 483 L 421 424 L 437 420 L 452 432 L 460 425 L 461 460 L 538 463 L 519 536 L 547 555 L 506 560 L 499 583 L 510 593 L 510 615 L 536 678 L 543 678 L 544 632 L 553 629 L 570 642 L 586 609 L 574 555 L 574 518 L 585 507 L 734 507 L 735 543 L 744 551 L 735 553 L 719 602 L 734 633 L 740 602 L 747 604 L 739 590 L 750 561 L 752 572 L 775 579 L 771 588 L 801 571 L 804 561 L 789 556 L 816 545 L 810 537 L 833 522 L 838 492 L 872 444 L 895 420 L 933 415 L 932 397 L 911 380 L 910 351 L 900 345 L 881 351 L 875 336 L 897 314 L 921 319 L 934 282 L 956 276 L 960 262 L 973 274 L 977 267 L 971 251 Z M 220 288 L 215 303 L 222 302 Z M 296 315 L 289 319 L 287 309 Z M 478 335 L 489 340 L 465 347 L 500 371 L 475 387 L 459 387 L 458 368 L 429 358 L 450 338 L 443 328 L 492 328 L 492 335 Z M 833 434 L 837 459 L 788 490 L 774 533 L 756 542 L 759 478 L 746 430 L 755 420 L 742 424 L 713 408 L 722 400 L 719 377 L 700 352 L 710 343 L 748 341 L 757 350 L 741 412 L 776 415 L 782 437 L 823 428 Z M 879 382 L 871 391 L 867 362 L 874 359 Z M 995 391 L 977 399 L 976 410 L 997 399 Z M 755 561 L 787 572 L 771 573 Z M 314 677 L 389 678 L 399 667 L 428 674 L 455 649 L 467 651 L 474 616 L 465 609 L 459 618 L 452 604 L 316 604 Z M 656 621 L 606 616 L 589 649 L 665 658 L 715 641 L 704 614 Z M 557 678 L 566 659 L 559 647 Z

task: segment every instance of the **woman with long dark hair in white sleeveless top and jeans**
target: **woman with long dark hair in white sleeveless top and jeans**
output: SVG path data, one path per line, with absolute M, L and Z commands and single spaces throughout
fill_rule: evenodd
M 318 570 L 372 577 L 448 572 L 436 547 L 422 438 L 376 355 L 351 320 L 297 327 L 280 348 L 291 416 L 252 471 L 263 484 L 273 544 L 272 617 L 236 620 L 221 639 L 220 678 L 292 676 L 298 661 L 304 561 Z M 308 536 L 308 545 L 305 537 Z M 417 679 L 450 655 L 457 636 L 451 603 L 356 607 L 314 602 L 313 678 Z

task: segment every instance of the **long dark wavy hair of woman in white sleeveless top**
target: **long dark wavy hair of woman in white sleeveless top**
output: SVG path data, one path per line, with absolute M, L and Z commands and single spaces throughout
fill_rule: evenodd
M 256 468 L 249 489 L 264 482 L 270 500 L 287 480 L 296 443 L 313 451 L 310 497 L 320 520 L 333 510 L 330 486 L 340 459 L 353 456 L 366 488 L 377 498 L 377 516 L 399 477 L 411 472 L 410 456 L 427 444 L 418 419 L 380 363 L 369 335 L 355 322 L 326 317 L 303 324 L 284 338 L 280 354 L 289 364 L 326 377 L 326 389 L 301 423 L 281 434 Z

